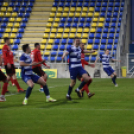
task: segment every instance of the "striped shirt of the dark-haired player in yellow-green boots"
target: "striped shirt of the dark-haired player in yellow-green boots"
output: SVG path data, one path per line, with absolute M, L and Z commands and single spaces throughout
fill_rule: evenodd
M 32 59 L 30 57 L 30 55 L 23 53 L 20 57 L 20 62 L 24 62 L 27 64 L 32 63 Z M 21 75 L 32 75 L 33 74 L 33 70 L 32 70 L 32 66 L 22 66 L 21 67 Z

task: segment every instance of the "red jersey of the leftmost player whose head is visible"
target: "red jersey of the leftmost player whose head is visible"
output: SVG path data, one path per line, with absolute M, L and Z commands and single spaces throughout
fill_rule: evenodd
M 4 65 L 7 65 L 7 63 L 14 64 L 13 62 L 13 52 L 10 50 L 8 45 L 4 45 L 2 48 L 2 58 L 4 60 Z

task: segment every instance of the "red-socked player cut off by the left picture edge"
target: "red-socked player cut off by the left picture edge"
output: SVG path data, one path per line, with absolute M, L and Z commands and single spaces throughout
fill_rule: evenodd
M 0 66 L 2 66 L 1 55 L 0 55 Z M 9 79 L 7 79 L 7 77 L 5 76 L 5 74 L 1 71 L 1 68 L 0 68 L 0 81 L 3 81 L 3 83 L 4 83 L 4 85 L 2 87 L 1 96 L 0 96 L 0 102 L 4 102 L 4 101 L 6 101 L 5 93 L 7 91 Z

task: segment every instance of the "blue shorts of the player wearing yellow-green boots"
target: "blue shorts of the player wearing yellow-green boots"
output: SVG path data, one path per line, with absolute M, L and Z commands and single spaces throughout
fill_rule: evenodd
M 37 83 L 37 81 L 39 80 L 39 76 L 32 74 L 32 75 L 22 75 L 22 80 L 27 83 L 28 80 L 32 80 L 34 83 Z

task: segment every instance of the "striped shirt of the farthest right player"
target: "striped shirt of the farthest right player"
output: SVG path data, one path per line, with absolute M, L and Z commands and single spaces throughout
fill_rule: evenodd
M 110 65 L 109 65 L 109 60 L 112 59 L 112 57 L 111 57 L 110 55 L 102 54 L 102 55 L 100 56 L 100 59 L 102 60 L 103 68 L 108 68 L 108 67 L 110 67 Z

